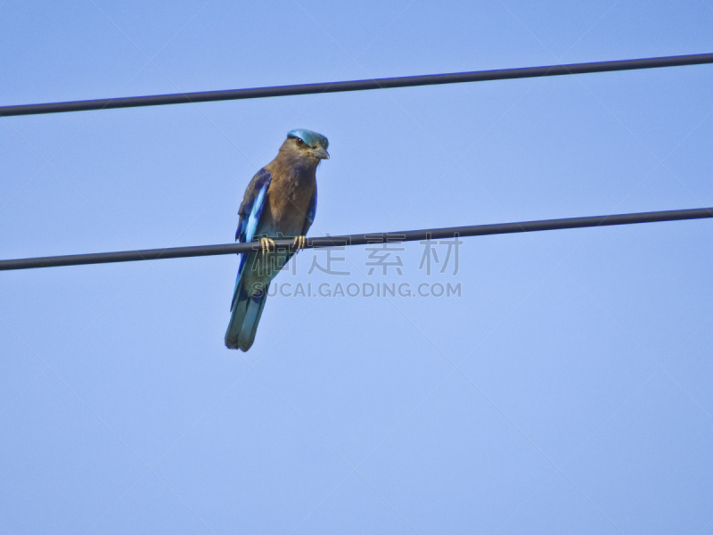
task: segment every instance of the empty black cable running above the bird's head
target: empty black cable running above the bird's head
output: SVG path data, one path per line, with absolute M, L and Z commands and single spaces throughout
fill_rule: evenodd
M 326 82 L 301 84 L 298 86 L 254 87 L 250 89 L 227 89 L 225 91 L 202 91 L 197 93 L 177 93 L 173 95 L 128 96 L 123 98 L 103 98 L 97 100 L 68 103 L 20 104 L 0 106 L 0 117 L 13 115 L 35 115 L 38 113 L 58 113 L 61 111 L 107 110 L 112 108 L 133 108 L 136 106 L 160 106 L 162 104 L 207 103 L 267 96 L 313 95 L 316 93 L 339 93 L 342 91 L 365 91 L 388 87 L 433 86 L 438 84 L 459 84 L 512 78 L 537 78 L 584 74 L 589 72 L 609 72 L 612 70 L 655 69 L 678 67 L 681 65 L 701 65 L 713 63 L 713 53 L 697 53 L 660 58 L 619 60 L 615 62 L 570 63 L 569 65 L 546 65 L 545 67 L 523 67 L 518 69 L 476 70 L 451 74 L 430 74 L 400 78 L 374 78 L 347 82 Z

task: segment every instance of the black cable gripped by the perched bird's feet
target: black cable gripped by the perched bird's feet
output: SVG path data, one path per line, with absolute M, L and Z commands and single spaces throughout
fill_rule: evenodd
M 679 221 L 682 219 L 713 218 L 713 208 L 691 210 L 666 210 L 640 212 L 635 214 L 615 214 L 587 218 L 544 219 L 520 223 L 496 223 L 495 225 L 452 226 L 407 230 L 366 235 L 344 235 L 307 238 L 307 248 L 335 247 L 342 245 L 365 245 L 372 243 L 414 242 L 416 240 L 436 240 L 455 236 L 500 235 L 562 228 L 583 228 L 586 226 L 631 225 L 634 223 L 654 223 L 657 221 Z M 292 240 L 275 240 L 278 247 L 290 247 Z M 56 266 L 78 266 L 82 264 L 106 264 L 110 262 L 130 262 L 133 260 L 177 259 L 196 256 L 234 254 L 257 250 L 259 244 L 225 243 L 222 245 L 197 245 L 193 247 L 170 247 L 168 249 L 144 249 L 143 251 L 96 252 L 67 256 L 35 259 L 0 260 L 0 271 L 9 269 L 52 268 Z

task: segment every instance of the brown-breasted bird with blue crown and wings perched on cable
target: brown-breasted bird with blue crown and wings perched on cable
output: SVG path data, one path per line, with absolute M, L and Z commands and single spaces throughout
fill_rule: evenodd
M 316 169 L 321 161 L 329 160 L 328 146 L 322 134 L 304 128 L 290 130 L 275 160 L 260 169 L 245 190 L 235 240 L 259 241 L 260 246 L 242 253 L 225 331 L 228 349 L 250 350 L 270 282 L 305 246 L 317 207 Z M 292 236 L 291 248 L 275 248 L 275 238 Z

